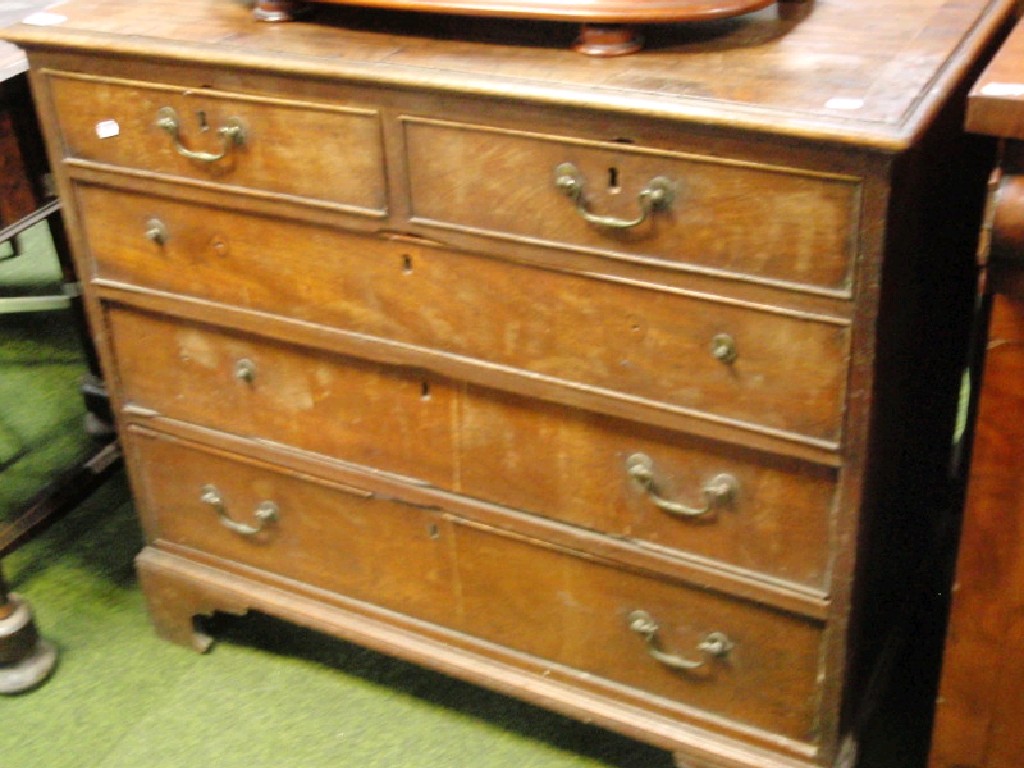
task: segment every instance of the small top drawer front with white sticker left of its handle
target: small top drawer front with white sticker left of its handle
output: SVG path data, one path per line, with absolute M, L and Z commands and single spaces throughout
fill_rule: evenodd
M 372 110 L 60 74 L 49 83 L 68 158 L 373 215 L 387 209 L 380 116 Z M 216 162 L 183 158 L 157 125 L 165 108 L 177 115 L 187 150 L 219 153 L 218 130 L 232 120 L 243 127 L 244 143 Z

